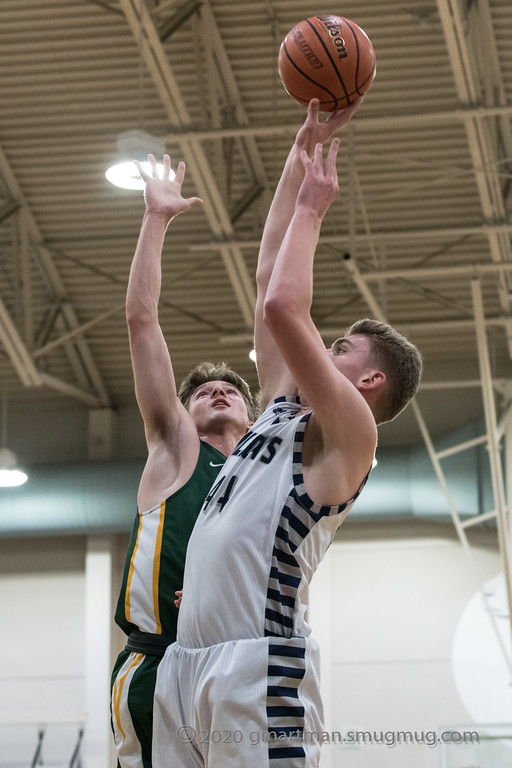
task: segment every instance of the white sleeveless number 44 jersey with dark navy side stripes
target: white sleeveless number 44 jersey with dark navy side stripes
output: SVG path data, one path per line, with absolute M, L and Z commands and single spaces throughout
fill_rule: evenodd
M 355 496 L 316 504 L 302 444 L 310 414 L 296 397 L 270 403 L 221 470 L 190 537 L 178 642 L 306 637 L 308 585 Z

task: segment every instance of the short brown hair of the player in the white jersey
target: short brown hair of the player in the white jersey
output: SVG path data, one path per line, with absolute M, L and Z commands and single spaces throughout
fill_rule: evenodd
M 377 424 L 391 421 L 414 397 L 423 370 L 421 352 L 409 339 L 380 320 L 357 320 L 346 331 L 347 336 L 361 334 L 370 340 L 370 355 L 386 374 L 386 389 L 375 408 Z

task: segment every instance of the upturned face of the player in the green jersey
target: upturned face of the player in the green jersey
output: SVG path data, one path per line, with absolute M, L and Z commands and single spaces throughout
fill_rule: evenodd
M 239 389 L 227 381 L 207 381 L 190 398 L 188 410 L 199 433 L 232 423 L 246 429 L 247 406 Z

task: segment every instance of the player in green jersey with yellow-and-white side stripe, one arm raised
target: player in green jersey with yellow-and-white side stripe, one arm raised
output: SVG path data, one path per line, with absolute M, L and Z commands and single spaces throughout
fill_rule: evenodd
M 126 297 L 130 353 L 148 458 L 130 538 L 116 622 L 128 635 L 112 673 L 112 727 L 121 768 L 151 768 L 153 692 L 159 661 L 174 642 L 185 551 L 211 485 L 253 421 L 247 383 L 225 363 L 201 363 L 176 389 L 158 319 L 161 256 L 167 228 L 195 205 L 181 187 L 185 165 L 170 180 L 149 156 L 140 165 L 146 208 Z

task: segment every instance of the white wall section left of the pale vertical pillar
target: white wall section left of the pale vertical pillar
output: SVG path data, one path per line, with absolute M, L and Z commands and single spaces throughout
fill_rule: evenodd
M 45 717 L 45 761 L 72 754 L 84 720 L 84 567 L 78 538 L 0 542 L 2 763 L 30 765 Z

